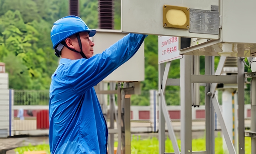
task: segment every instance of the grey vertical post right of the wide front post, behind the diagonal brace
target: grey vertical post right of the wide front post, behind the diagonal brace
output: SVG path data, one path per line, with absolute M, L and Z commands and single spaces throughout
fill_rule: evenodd
M 214 63 L 212 57 L 205 56 L 205 75 L 214 74 Z M 214 61 L 213 61 L 214 62 Z M 213 73 L 212 73 L 213 70 Z M 210 83 L 205 87 L 205 129 L 206 129 L 206 151 L 207 154 L 215 153 L 214 136 L 214 108 L 212 108 L 211 97 L 207 94 L 210 91 Z

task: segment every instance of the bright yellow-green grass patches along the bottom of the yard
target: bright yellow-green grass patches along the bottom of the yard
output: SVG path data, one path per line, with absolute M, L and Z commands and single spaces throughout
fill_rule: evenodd
M 177 140 L 180 148 L 180 140 Z M 114 146 L 117 147 L 118 143 L 115 142 Z M 23 154 L 24 151 L 41 151 L 44 150 L 47 154 L 50 154 L 49 144 L 41 144 L 37 146 L 24 146 L 16 148 L 16 154 Z M 192 151 L 205 151 L 205 139 L 194 139 L 192 140 Z M 172 142 L 167 138 L 166 140 L 166 152 L 174 152 Z M 251 153 L 251 139 L 245 137 L 245 154 Z M 131 140 L 131 154 L 158 154 L 158 140 L 156 137 L 141 140 L 140 136 L 133 135 Z M 215 138 L 215 154 L 226 154 L 222 148 L 222 138 Z

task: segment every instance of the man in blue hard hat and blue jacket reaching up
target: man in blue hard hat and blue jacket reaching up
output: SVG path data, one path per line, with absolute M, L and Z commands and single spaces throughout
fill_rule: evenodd
M 81 18 L 56 21 L 51 39 L 61 60 L 52 74 L 49 100 L 51 154 L 106 154 L 108 128 L 93 86 L 129 60 L 146 35 L 128 34 L 93 56 L 96 34 Z

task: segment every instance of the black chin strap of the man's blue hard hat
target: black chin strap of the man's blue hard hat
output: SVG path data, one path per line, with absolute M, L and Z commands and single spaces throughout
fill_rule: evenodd
M 85 56 L 85 54 L 83 53 L 83 50 L 82 50 L 83 48 L 82 48 L 82 43 L 81 43 L 81 39 L 80 39 L 79 33 L 76 33 L 76 38 L 77 38 L 77 41 L 79 43 L 79 47 L 80 47 L 81 51 L 76 51 L 75 49 L 68 47 L 65 41 L 61 41 L 61 43 L 58 44 L 58 46 L 55 48 L 55 55 L 57 57 L 60 57 L 61 49 L 65 46 L 66 48 L 70 49 L 71 51 L 77 52 L 77 53 L 81 54 L 81 56 L 83 58 L 87 59 L 87 57 Z

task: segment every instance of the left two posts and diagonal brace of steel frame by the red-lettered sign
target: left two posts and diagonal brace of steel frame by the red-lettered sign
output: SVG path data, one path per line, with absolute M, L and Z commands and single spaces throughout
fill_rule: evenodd
M 192 83 L 191 83 L 192 56 L 183 56 L 180 59 L 180 104 L 181 104 L 181 154 L 192 153 Z M 164 91 L 170 81 L 178 82 L 178 79 L 168 79 L 171 62 L 159 64 L 159 154 L 165 154 L 165 122 L 168 126 L 169 136 L 175 149 L 175 154 L 180 154 L 177 140 L 172 128 L 171 120 L 166 110 Z M 167 84 L 169 82 L 169 84 Z

